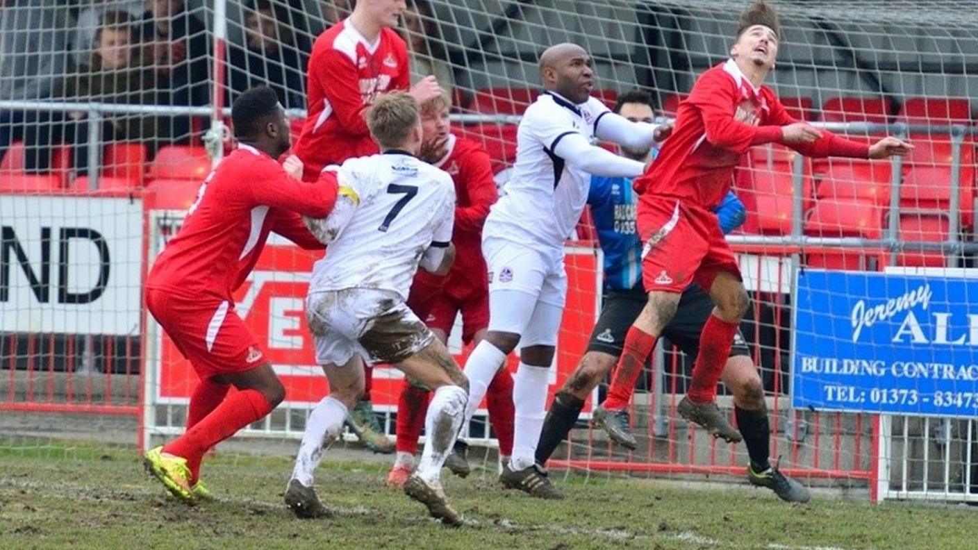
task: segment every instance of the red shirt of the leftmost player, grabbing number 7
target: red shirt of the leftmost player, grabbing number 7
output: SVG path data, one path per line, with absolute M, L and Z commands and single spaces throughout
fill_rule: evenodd
M 335 202 L 333 172 L 315 183 L 297 181 L 276 160 L 241 145 L 204 180 L 180 231 L 156 256 L 146 286 L 186 298 L 230 300 L 270 231 L 303 248 L 322 249 L 299 214 L 326 217 Z

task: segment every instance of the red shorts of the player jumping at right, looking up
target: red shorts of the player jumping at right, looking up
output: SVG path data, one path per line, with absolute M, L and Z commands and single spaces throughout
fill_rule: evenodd
M 645 292 L 680 294 L 690 283 L 706 292 L 717 273 L 740 278 L 716 214 L 670 197 L 643 197 L 636 211 L 642 249 Z

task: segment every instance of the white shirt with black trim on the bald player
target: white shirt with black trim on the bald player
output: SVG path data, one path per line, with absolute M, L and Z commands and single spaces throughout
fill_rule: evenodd
M 519 122 L 516 161 L 482 234 L 562 247 L 587 203 L 591 174 L 557 157 L 554 148 L 572 133 L 591 141 L 605 113 L 610 111 L 597 98 L 574 105 L 553 92 L 542 93 Z

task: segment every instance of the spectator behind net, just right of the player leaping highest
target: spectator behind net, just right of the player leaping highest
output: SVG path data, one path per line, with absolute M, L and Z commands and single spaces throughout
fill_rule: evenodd
M 427 0 L 411 0 L 404 12 L 404 29 L 401 33 L 408 43 L 411 60 L 411 83 L 433 75 L 438 84 L 452 97 L 455 74 L 448 60 L 441 29 L 434 19 L 434 10 Z

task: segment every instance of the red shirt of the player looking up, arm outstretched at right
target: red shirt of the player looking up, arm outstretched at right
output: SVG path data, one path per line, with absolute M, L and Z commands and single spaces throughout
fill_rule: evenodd
M 796 122 L 771 88 L 754 88 L 733 60 L 699 76 L 679 105 L 676 127 L 635 190 L 712 209 L 733 183 L 733 169 L 751 146 L 779 142 L 781 126 Z M 789 145 L 808 157 L 866 159 L 869 146 L 825 130 L 812 143 Z

